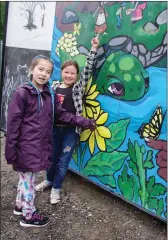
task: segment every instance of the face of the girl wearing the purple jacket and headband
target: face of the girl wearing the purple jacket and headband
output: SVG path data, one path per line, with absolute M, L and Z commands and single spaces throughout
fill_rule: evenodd
M 31 71 L 31 74 L 33 75 L 32 83 L 37 88 L 42 89 L 43 85 L 50 79 L 52 70 L 52 63 L 46 59 L 41 59 Z

